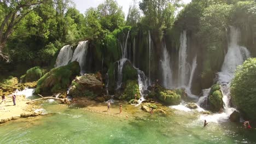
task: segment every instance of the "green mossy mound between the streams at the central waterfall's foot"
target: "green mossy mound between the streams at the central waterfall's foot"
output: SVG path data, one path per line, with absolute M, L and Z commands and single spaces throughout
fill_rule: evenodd
M 121 96 L 121 99 L 129 101 L 135 98 L 135 94 L 137 94 L 137 99 L 141 98 L 138 82 L 136 80 L 128 80 L 126 82 L 124 94 Z

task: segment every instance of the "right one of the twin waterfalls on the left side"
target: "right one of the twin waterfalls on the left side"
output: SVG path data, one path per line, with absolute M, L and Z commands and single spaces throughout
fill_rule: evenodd
M 73 61 L 79 62 L 81 75 L 85 73 L 84 65 L 86 61 L 87 51 L 88 51 L 88 41 L 80 41 L 77 48 L 75 48 L 74 55 L 71 60 L 72 62 Z

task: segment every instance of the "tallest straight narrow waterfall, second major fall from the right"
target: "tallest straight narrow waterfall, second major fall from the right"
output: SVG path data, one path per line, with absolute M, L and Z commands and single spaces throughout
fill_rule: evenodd
M 179 47 L 179 73 L 178 73 L 178 85 L 179 87 L 185 87 L 188 82 L 189 65 L 187 63 L 187 31 L 182 31 Z

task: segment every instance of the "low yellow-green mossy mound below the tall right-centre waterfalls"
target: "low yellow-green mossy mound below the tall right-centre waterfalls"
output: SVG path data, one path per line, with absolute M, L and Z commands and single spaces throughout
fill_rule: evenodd
M 158 99 L 167 105 L 178 105 L 181 103 L 181 95 L 176 91 L 166 90 L 162 91 L 158 95 Z

